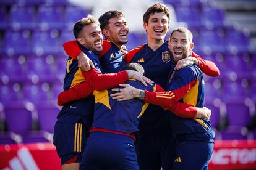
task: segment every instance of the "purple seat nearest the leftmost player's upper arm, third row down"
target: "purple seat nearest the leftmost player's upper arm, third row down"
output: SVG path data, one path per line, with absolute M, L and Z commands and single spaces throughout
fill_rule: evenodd
M 33 82 L 33 77 L 36 75 L 40 82 L 54 81 L 54 58 L 52 55 L 47 57 L 30 57 L 27 62 L 27 76 Z M 34 82 L 37 83 L 37 82 Z

